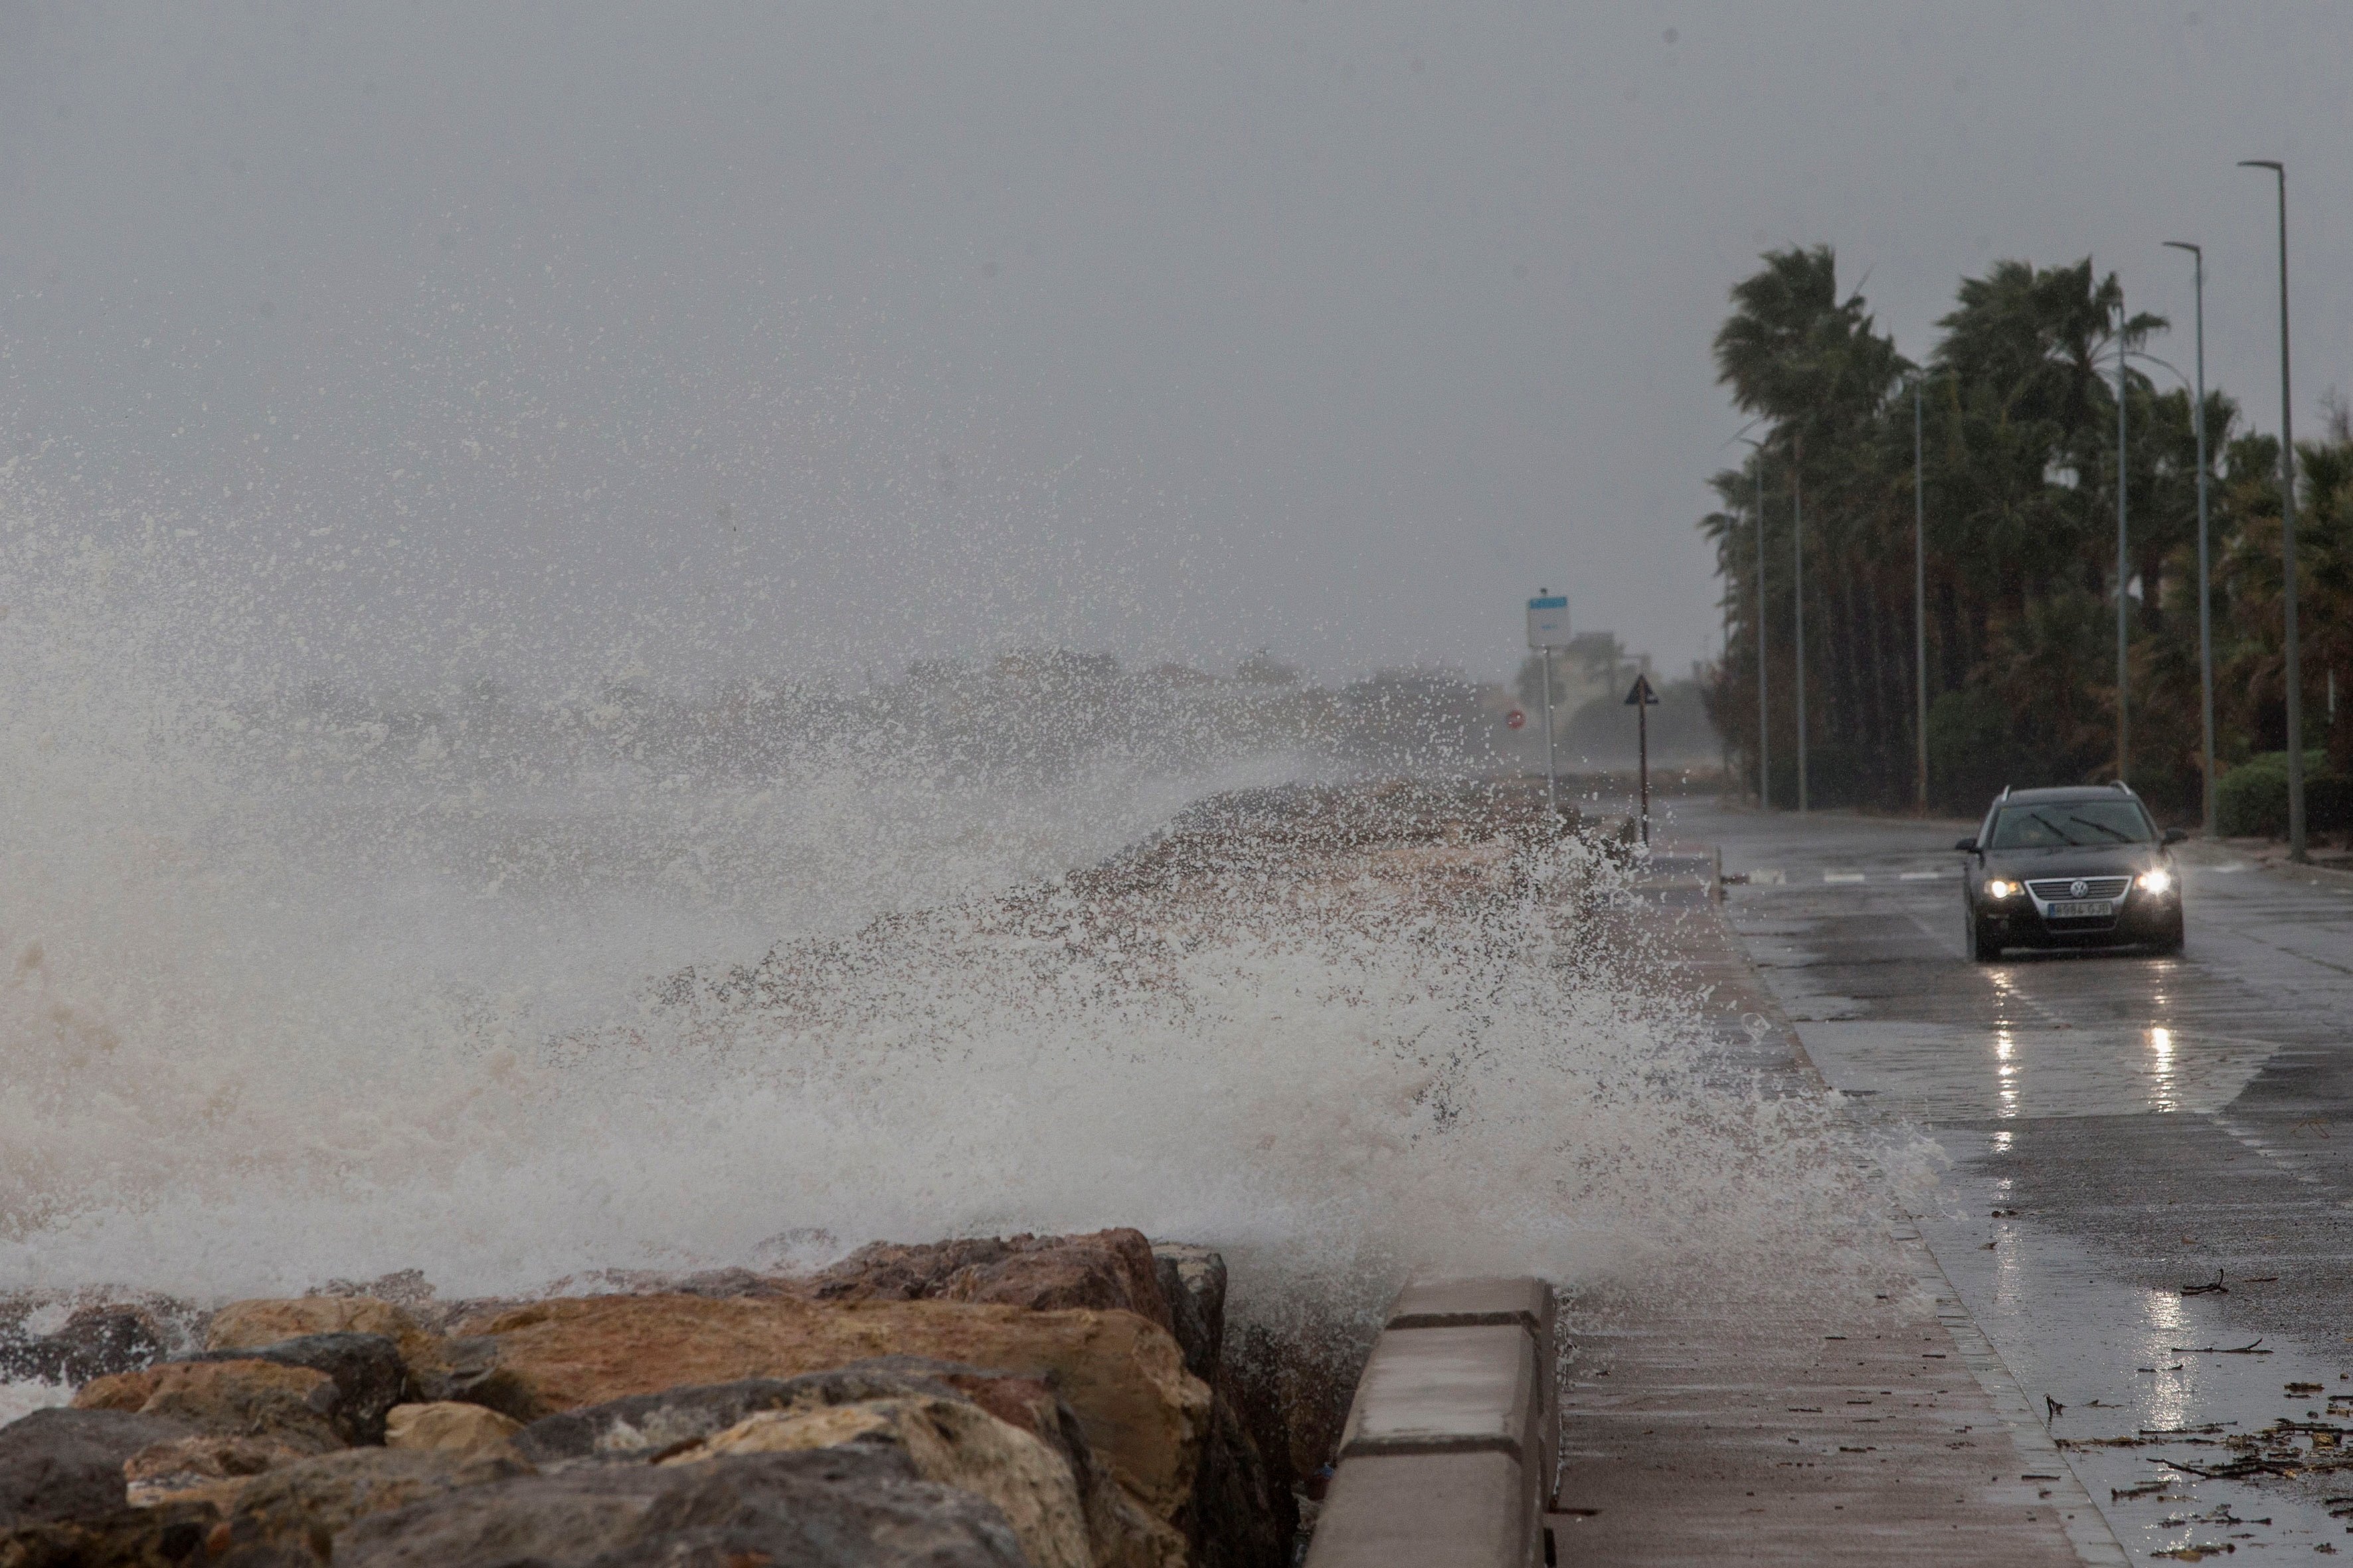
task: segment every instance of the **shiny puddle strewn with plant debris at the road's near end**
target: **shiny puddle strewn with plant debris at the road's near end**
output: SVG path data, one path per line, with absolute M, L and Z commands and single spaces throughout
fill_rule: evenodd
M 1967 1145 L 1986 1135 L 2002 1133 L 1941 1133 L 1962 1157 L 1955 1211 L 1920 1232 L 2132 1559 L 2353 1552 L 2353 1356 L 2240 1326 L 2245 1286 L 2097 1279 L 2075 1241 L 1986 1218 L 2007 1199 L 2000 1178 L 1969 1173 Z M 2266 1354 L 2228 1354 L 2242 1347 Z

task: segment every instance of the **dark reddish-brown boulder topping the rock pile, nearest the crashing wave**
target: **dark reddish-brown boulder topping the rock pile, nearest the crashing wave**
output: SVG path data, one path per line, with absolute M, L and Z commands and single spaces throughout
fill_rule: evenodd
M 816 1300 L 1002 1302 L 1033 1312 L 1134 1312 L 1169 1328 L 1153 1244 L 1139 1229 L 1085 1237 L 875 1241 L 809 1279 Z

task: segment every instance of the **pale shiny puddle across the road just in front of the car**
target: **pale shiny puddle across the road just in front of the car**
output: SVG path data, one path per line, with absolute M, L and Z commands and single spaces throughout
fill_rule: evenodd
M 2217 1112 L 2278 1051 L 2167 1027 L 1819 1020 L 1805 1048 L 1838 1088 L 1925 1121 Z

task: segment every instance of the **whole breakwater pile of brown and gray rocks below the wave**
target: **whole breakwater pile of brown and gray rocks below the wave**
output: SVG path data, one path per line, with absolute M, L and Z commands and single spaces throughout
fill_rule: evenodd
M 1217 1253 L 1111 1229 L 598 1286 L 82 1321 L 73 1406 L 0 1427 L 0 1568 L 1289 1561 Z

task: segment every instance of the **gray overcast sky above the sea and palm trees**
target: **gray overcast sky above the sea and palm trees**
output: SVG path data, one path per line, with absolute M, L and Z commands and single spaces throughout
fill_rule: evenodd
M 2186 364 L 2202 240 L 2275 428 L 2285 158 L 2308 421 L 2348 82 L 2341 2 L 16 5 L 0 505 L 308 550 L 369 665 L 1504 672 L 1539 581 L 1682 665 L 1760 249 L 1913 355 L 2092 254 Z

